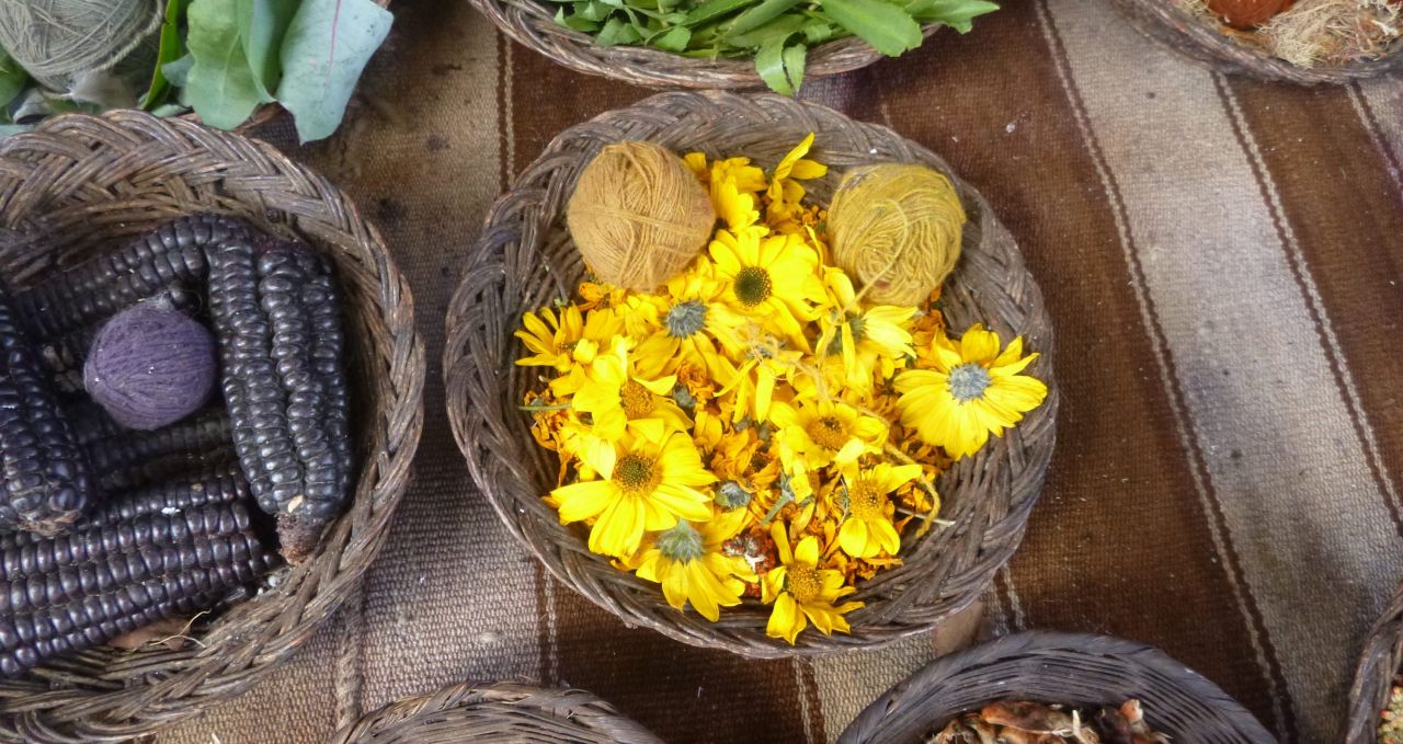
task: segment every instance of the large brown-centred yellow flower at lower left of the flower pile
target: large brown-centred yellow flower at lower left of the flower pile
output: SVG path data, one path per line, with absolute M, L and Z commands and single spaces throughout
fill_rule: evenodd
M 645 531 L 711 517 L 711 496 L 697 487 L 710 486 L 716 476 L 702 466 L 686 434 L 673 432 L 661 444 L 624 438 L 586 446 L 579 456 L 600 480 L 561 486 L 549 503 L 560 510 L 563 525 L 595 519 L 589 529 L 595 553 L 627 557 L 638 550 Z

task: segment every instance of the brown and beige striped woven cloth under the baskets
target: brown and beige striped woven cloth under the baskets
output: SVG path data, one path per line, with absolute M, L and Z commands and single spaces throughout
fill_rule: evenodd
M 982 619 L 760 663 L 626 629 L 543 576 L 453 445 L 443 312 L 512 174 L 648 91 L 515 48 L 466 3 L 405 0 L 344 131 L 289 149 L 358 198 L 414 286 L 431 362 L 415 480 L 359 604 L 159 741 L 323 741 L 443 684 L 532 679 L 591 689 L 668 741 L 822 743 L 967 630 L 1021 627 L 1157 644 L 1284 741 L 1338 741 L 1358 647 L 1403 574 L 1403 80 L 1225 79 L 1101 0 L 1006 6 L 969 36 L 805 86 L 944 156 L 1048 299 L 1058 453 Z

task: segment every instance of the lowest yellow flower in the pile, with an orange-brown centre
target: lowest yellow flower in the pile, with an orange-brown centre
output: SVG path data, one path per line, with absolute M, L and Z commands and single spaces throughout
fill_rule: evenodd
M 810 622 L 825 636 L 833 630 L 846 633 L 849 626 L 843 615 L 863 604 L 845 602 L 835 606 L 838 599 L 857 590 L 843 585 L 842 571 L 819 569 L 818 538 L 810 535 L 790 552 L 790 539 L 783 525 L 777 522 L 772 525 L 770 535 L 774 538 L 781 566 L 766 571 L 762 584 L 763 599 L 774 602 L 765 635 L 793 644 Z

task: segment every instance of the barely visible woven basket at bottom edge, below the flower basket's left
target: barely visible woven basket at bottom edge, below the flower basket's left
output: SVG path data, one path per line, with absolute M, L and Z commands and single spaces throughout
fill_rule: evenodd
M 337 731 L 331 744 L 662 744 L 582 689 L 467 682 L 407 698 Z

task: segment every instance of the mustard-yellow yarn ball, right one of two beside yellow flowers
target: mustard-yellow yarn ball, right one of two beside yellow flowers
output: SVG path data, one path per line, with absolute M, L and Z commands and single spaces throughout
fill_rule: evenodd
M 833 260 L 877 305 L 926 302 L 960 260 L 964 223 L 950 178 L 904 163 L 849 170 L 828 209 Z

